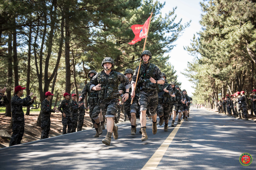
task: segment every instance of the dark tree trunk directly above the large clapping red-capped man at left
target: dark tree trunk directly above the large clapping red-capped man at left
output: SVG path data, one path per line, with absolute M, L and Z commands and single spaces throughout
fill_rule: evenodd
M 14 19 L 14 24 L 16 21 Z M 19 86 L 19 72 L 18 72 L 18 55 L 17 55 L 17 31 L 13 29 L 13 70 L 14 70 L 14 87 Z

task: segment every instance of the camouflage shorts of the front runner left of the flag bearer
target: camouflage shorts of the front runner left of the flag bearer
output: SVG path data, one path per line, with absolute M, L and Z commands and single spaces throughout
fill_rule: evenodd
M 106 99 L 106 100 L 99 100 L 99 106 L 102 111 L 103 117 L 114 117 L 117 111 L 117 104 L 119 100 L 117 99 Z M 93 114 L 92 118 L 96 120 L 98 118 L 98 115 Z

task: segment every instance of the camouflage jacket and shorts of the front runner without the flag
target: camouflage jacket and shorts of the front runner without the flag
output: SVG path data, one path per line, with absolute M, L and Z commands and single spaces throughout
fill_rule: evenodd
M 117 103 L 120 93 L 118 91 L 118 83 L 121 82 L 125 85 L 125 88 L 130 88 L 129 80 L 122 73 L 111 70 L 110 74 L 107 75 L 104 70 L 95 75 L 90 81 L 90 90 L 98 84 L 101 85 L 101 90 L 98 91 L 99 103 L 102 115 L 105 117 L 114 117 L 117 110 Z M 95 109 L 92 113 L 94 120 L 98 119 L 98 112 Z

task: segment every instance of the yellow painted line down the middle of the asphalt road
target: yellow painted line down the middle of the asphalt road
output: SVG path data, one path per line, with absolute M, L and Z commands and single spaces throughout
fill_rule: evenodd
M 177 124 L 177 126 L 173 129 L 172 133 L 170 133 L 170 135 L 166 138 L 166 140 L 164 140 L 164 142 L 161 144 L 158 150 L 151 156 L 148 162 L 143 166 L 142 170 L 157 169 L 159 162 L 161 161 L 166 150 L 169 148 L 169 145 L 172 143 L 173 138 L 175 137 L 183 121 L 184 119 L 182 119 L 180 124 Z

